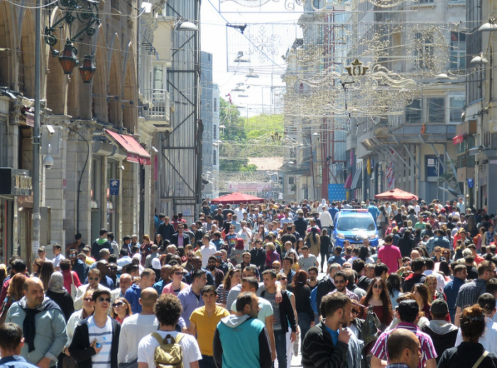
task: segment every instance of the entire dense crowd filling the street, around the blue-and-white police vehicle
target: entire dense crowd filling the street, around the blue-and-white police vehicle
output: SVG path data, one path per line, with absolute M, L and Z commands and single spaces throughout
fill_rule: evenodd
M 334 245 L 342 208 L 378 247 Z M 0 265 L 0 366 L 497 368 L 496 221 L 462 199 L 206 200 L 151 237 L 77 234 Z

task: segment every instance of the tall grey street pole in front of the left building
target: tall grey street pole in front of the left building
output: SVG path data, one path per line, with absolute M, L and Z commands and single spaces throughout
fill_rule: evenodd
M 33 128 L 33 238 L 31 252 L 40 247 L 40 78 L 41 78 L 41 0 L 35 11 L 35 126 Z M 31 264 L 29 262 L 28 264 Z M 28 266 L 29 267 L 29 266 Z

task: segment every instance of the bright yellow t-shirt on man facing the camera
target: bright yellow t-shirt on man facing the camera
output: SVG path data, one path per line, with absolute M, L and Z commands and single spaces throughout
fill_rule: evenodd
M 214 333 L 221 318 L 227 316 L 229 316 L 229 311 L 226 311 L 226 309 L 220 306 L 216 306 L 210 317 L 205 312 L 205 306 L 197 308 L 192 312 L 190 321 L 197 325 L 197 342 L 202 355 L 209 355 L 209 357 L 214 355 L 214 351 L 212 350 Z

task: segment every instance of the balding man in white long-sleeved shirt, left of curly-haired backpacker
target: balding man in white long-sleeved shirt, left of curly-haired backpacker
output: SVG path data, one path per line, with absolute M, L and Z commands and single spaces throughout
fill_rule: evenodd
M 146 335 L 154 333 L 159 328 L 159 323 L 153 313 L 153 306 L 158 299 L 155 289 L 148 287 L 141 291 L 141 312 L 124 319 L 119 335 L 119 350 L 117 363 L 129 363 L 138 358 L 138 344 Z

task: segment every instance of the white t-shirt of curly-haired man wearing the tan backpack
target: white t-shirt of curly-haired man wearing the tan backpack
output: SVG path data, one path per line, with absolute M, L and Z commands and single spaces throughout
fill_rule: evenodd
M 167 335 L 176 338 L 178 335 L 176 331 L 157 331 L 157 333 L 162 338 L 165 338 Z M 200 347 L 192 335 L 184 335 L 180 341 L 180 345 L 183 351 L 183 368 L 190 368 L 190 363 L 202 359 Z M 146 363 L 148 368 L 155 368 L 153 354 L 155 347 L 158 346 L 159 342 L 152 335 L 146 335 L 141 339 L 140 344 L 138 344 L 138 363 Z

